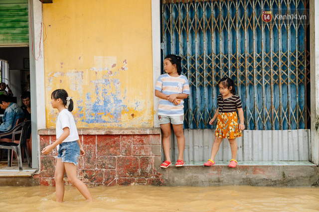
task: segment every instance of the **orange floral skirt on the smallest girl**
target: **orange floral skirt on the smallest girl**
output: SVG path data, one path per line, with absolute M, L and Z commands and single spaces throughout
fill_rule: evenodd
M 218 112 L 215 136 L 234 139 L 242 136 L 237 112 Z

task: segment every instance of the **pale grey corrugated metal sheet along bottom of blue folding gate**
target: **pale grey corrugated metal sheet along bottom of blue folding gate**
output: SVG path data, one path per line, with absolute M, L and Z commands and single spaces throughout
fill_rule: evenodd
M 185 161 L 207 161 L 210 158 L 215 130 L 184 129 Z M 310 161 L 310 129 L 244 130 L 236 139 L 238 161 Z M 171 140 L 171 158 L 178 155 L 176 136 Z M 228 139 L 220 144 L 216 161 L 229 161 Z

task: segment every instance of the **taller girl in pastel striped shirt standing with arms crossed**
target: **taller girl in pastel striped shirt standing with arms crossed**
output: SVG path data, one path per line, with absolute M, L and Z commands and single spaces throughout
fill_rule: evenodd
M 188 97 L 189 85 L 184 75 L 181 75 L 181 58 L 169 54 L 164 59 L 164 70 L 166 74 L 160 75 L 156 82 L 155 96 L 159 101 L 159 122 L 162 131 L 162 144 L 166 160 L 160 164 L 161 168 L 171 165 L 170 147 L 170 124 L 173 126 L 177 138 L 178 159 L 176 167 L 184 166 L 183 154 L 185 148 L 185 137 L 183 133 L 184 101 Z

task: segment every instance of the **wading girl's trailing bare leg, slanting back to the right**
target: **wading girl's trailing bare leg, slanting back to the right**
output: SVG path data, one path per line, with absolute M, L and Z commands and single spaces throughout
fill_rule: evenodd
M 77 177 L 77 168 L 73 163 L 64 163 L 69 182 L 75 186 L 85 199 L 94 201 L 88 187 Z

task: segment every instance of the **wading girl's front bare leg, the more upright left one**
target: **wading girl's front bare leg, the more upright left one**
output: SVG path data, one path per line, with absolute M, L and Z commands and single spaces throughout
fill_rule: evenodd
M 64 164 L 61 161 L 61 158 L 57 159 L 55 172 L 54 172 L 54 181 L 55 181 L 55 197 L 56 202 L 62 203 L 64 197 L 64 177 L 65 169 Z

